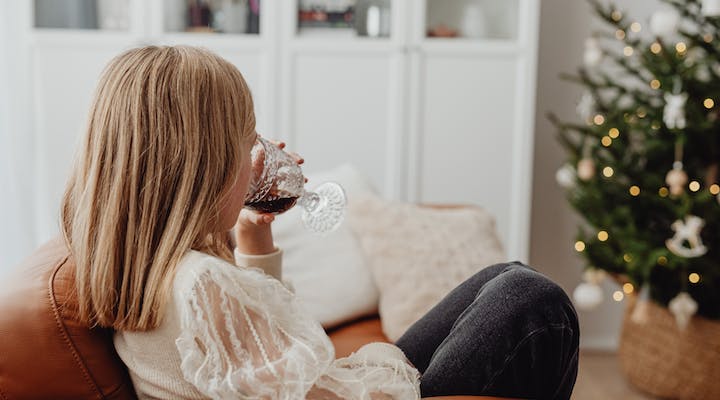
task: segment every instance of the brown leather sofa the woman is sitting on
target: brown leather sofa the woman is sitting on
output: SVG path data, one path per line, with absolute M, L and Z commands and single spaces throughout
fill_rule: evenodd
M 112 332 L 73 319 L 73 282 L 72 260 L 60 239 L 0 282 L 0 400 L 136 398 Z M 370 341 L 387 341 L 377 318 L 342 326 L 330 337 L 338 357 Z

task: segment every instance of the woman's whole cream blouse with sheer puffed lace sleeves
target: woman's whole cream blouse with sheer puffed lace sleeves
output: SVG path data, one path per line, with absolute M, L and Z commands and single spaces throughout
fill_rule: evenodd
M 236 252 L 238 267 L 189 251 L 161 325 L 115 334 L 139 398 L 420 398 L 420 374 L 391 344 L 335 360 L 323 328 L 279 280 L 280 259 Z

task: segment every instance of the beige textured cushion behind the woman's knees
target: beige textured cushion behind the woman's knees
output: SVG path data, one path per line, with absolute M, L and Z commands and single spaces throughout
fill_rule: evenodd
M 493 217 L 479 207 L 436 209 L 375 196 L 350 204 L 380 291 L 383 332 L 393 342 L 453 288 L 505 254 Z

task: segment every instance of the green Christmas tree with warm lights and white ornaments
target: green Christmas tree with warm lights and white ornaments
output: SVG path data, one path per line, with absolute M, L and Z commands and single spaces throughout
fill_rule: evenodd
M 649 29 L 589 1 L 604 28 L 565 76 L 585 89 L 581 121 L 550 115 L 567 152 L 557 180 L 585 220 L 576 300 L 599 303 L 606 272 L 616 300 L 640 292 L 681 327 L 720 319 L 720 1 L 665 0 Z

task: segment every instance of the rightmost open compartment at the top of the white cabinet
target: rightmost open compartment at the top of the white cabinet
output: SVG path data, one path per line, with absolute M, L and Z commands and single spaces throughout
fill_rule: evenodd
M 425 0 L 425 37 L 431 40 L 515 40 L 518 0 Z

